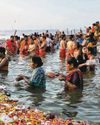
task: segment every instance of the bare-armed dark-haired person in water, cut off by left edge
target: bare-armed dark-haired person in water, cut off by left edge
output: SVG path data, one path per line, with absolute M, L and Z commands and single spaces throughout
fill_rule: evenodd
M 5 48 L 0 47 L 0 72 L 8 71 L 9 58 L 5 56 Z

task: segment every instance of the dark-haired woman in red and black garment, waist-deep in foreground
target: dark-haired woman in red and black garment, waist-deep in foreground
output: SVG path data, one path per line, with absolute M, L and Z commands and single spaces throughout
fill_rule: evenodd
M 83 76 L 81 71 L 78 69 L 78 63 L 74 57 L 67 59 L 67 75 L 59 76 L 59 80 L 65 81 L 65 90 L 74 90 L 83 88 Z

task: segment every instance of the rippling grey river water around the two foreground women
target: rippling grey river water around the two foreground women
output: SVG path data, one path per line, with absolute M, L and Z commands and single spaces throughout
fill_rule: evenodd
M 48 54 L 44 61 L 47 71 L 65 72 L 65 63 L 59 60 L 58 51 Z M 9 72 L 0 73 L 0 84 L 6 85 L 11 98 L 18 99 L 19 104 L 36 107 L 45 112 L 53 112 L 60 117 L 74 117 L 78 120 L 88 120 L 100 123 L 100 68 L 96 67 L 95 74 L 84 75 L 83 91 L 64 92 L 64 82 L 58 78 L 47 78 L 46 91 L 27 88 L 23 82 L 15 85 L 18 74 L 30 76 L 30 59 L 22 60 L 18 56 L 9 63 Z

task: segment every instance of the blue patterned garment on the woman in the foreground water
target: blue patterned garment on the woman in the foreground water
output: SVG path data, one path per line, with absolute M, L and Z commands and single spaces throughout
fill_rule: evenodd
M 33 70 L 30 84 L 40 88 L 46 87 L 46 77 L 42 67 L 39 67 Z

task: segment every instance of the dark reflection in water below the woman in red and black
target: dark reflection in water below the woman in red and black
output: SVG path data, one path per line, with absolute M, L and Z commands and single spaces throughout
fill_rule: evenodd
M 62 93 L 62 98 L 68 102 L 68 104 L 63 109 L 63 114 L 68 117 L 76 117 L 78 114 L 77 108 L 81 103 L 82 99 L 82 90 L 77 89 L 74 91 L 67 91 Z

